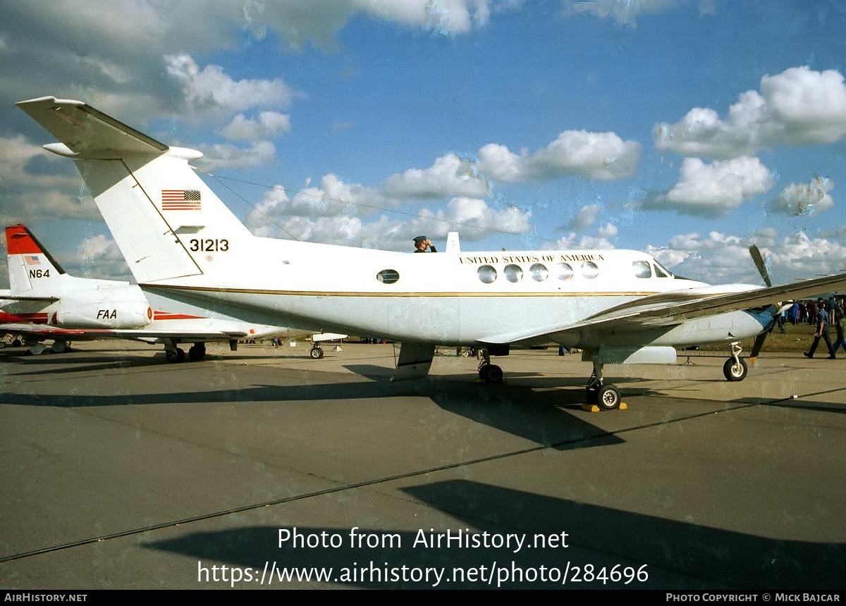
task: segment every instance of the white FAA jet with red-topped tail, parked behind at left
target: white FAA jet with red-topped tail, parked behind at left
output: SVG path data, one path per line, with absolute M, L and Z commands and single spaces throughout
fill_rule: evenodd
M 141 289 L 129 282 L 69 276 L 23 225 L 6 227 L 8 278 L 0 292 L 0 332 L 24 337 L 31 353 L 68 351 L 71 341 L 129 339 L 160 343 L 168 362 L 185 358 L 180 343 L 194 343 L 188 357 L 206 355 L 207 341 L 286 336 L 277 326 L 250 325 L 236 319 L 153 310 Z

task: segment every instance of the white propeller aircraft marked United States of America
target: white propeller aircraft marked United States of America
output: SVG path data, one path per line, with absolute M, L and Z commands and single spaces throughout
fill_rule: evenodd
M 584 351 L 588 401 L 613 409 L 620 392 L 603 364 L 673 363 L 675 347 L 727 343 L 724 374 L 744 379 L 738 341 L 765 333 L 773 303 L 846 286 L 846 275 L 708 286 L 630 250 L 462 253 L 453 241 L 445 253 L 407 254 L 255 237 L 191 169 L 200 152 L 81 101 L 18 105 L 61 141 L 47 150 L 76 161 L 146 292 L 246 320 L 401 341 L 394 379 L 425 376 L 442 344 L 483 348 L 480 377 L 497 382 L 490 355 L 556 342 Z

